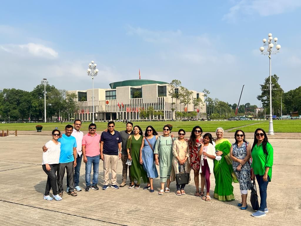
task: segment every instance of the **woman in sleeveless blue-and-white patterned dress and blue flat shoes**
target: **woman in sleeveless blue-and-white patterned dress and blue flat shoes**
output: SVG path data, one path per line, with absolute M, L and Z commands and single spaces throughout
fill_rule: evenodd
M 240 209 L 247 209 L 248 190 L 252 188 L 251 182 L 251 146 L 245 139 L 244 131 L 236 130 L 234 134 L 235 143 L 230 149 L 230 158 L 232 159 L 232 168 L 239 181 L 241 202 L 237 204 Z

